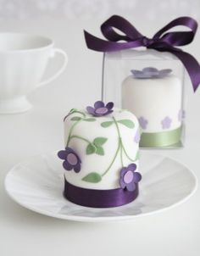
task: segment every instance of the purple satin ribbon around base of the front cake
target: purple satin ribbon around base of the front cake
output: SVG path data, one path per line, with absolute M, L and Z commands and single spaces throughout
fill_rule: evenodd
M 131 203 L 138 196 L 138 184 L 133 192 L 115 188 L 109 190 L 88 189 L 70 184 L 64 179 L 64 197 L 70 202 L 92 208 L 110 208 Z

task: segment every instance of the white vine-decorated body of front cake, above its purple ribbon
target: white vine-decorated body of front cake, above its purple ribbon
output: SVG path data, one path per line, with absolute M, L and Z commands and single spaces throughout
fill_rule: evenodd
M 97 113 L 105 110 L 99 109 Z M 97 190 L 119 188 L 120 170 L 131 163 L 138 169 L 136 116 L 127 110 L 112 111 L 95 116 L 72 109 L 64 118 L 64 146 L 69 151 L 65 155 L 60 151 L 58 157 L 64 159 L 64 175 L 70 184 Z

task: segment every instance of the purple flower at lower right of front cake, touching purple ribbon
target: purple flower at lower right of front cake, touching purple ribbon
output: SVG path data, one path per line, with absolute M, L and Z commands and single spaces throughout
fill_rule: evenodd
M 142 180 L 142 175 L 135 170 L 136 164 L 129 164 L 128 167 L 120 170 L 119 185 L 121 188 L 126 188 L 128 191 L 136 189 L 136 183 Z

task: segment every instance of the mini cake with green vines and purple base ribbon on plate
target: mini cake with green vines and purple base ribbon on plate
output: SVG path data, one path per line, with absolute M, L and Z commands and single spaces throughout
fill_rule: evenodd
M 97 101 L 64 118 L 64 197 L 87 207 L 115 207 L 138 195 L 139 123 L 130 111 Z

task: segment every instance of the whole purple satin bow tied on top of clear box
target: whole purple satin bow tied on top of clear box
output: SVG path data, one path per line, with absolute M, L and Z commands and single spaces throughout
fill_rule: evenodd
M 177 25 L 184 25 L 191 31 L 170 31 Z M 119 35 L 115 29 L 118 29 L 125 35 Z M 126 19 L 114 15 L 101 25 L 101 31 L 108 41 L 92 36 L 84 31 L 86 45 L 88 48 L 98 52 L 114 52 L 135 47 L 147 47 L 158 52 L 169 52 L 179 58 L 185 66 L 191 81 L 194 92 L 200 83 L 200 65 L 197 60 L 189 53 L 183 52 L 177 46 L 184 46 L 192 42 L 196 31 L 197 21 L 191 17 L 180 17 L 169 22 L 153 38 L 143 36 Z M 125 42 L 119 42 L 125 41 Z

